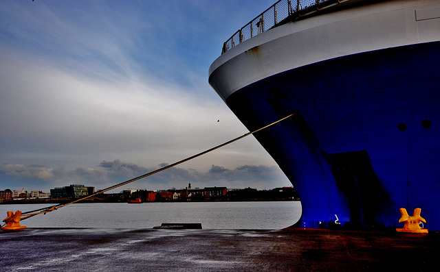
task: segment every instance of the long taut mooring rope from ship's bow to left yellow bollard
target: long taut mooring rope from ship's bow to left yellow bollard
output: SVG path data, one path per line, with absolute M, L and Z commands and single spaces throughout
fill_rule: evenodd
M 126 185 L 126 184 L 131 183 L 131 182 L 135 182 L 136 180 L 140 180 L 140 179 L 142 179 L 142 178 L 144 178 L 144 177 L 148 177 L 148 175 L 154 175 L 155 173 L 159 173 L 159 172 L 161 172 L 161 171 L 164 171 L 164 170 L 166 170 L 166 169 L 168 169 L 168 168 L 171 168 L 171 167 L 173 167 L 173 166 L 176 166 L 177 164 L 181 164 L 181 163 L 187 162 L 188 160 L 192 160 L 192 159 L 194 159 L 194 158 L 197 158 L 197 157 L 199 157 L 199 156 L 202 156 L 202 155 L 204 155 L 204 154 L 206 154 L 206 153 L 209 153 L 210 151 L 214 151 L 215 149 L 219 149 L 220 147 L 224 147 L 225 145 L 229 145 L 230 143 L 234 143 L 236 140 L 240 140 L 240 139 L 242 139 L 242 138 L 245 138 L 246 136 L 249 136 L 249 135 L 251 135 L 251 134 L 254 134 L 254 133 L 256 133 L 256 132 L 259 132 L 259 131 L 262 130 L 262 129 L 265 129 L 266 127 L 270 127 L 271 125 L 275 125 L 276 123 L 281 122 L 281 121 L 283 121 L 283 120 L 289 118 L 290 116 L 294 116 L 294 113 L 293 113 L 293 114 L 289 114 L 288 116 L 285 116 L 284 118 L 279 119 L 278 121 L 275 121 L 274 123 L 270 123 L 269 125 L 265 125 L 264 127 L 261 127 L 261 128 L 259 128 L 259 129 L 256 129 L 256 130 L 254 130 L 253 132 L 248 132 L 248 133 L 246 133 L 246 134 L 243 134 L 242 136 L 239 136 L 239 137 L 237 137 L 237 138 L 234 138 L 234 139 L 232 139 L 232 140 L 229 140 L 228 142 L 225 142 L 225 143 L 223 143 L 223 144 L 221 144 L 221 145 L 217 145 L 217 147 L 212 147 L 212 148 L 210 148 L 210 149 L 207 149 L 206 151 L 200 152 L 200 153 L 198 153 L 198 154 L 196 154 L 196 155 L 194 155 L 194 156 L 190 156 L 190 157 L 188 157 L 188 158 L 186 158 L 186 159 L 184 159 L 184 160 L 179 160 L 179 162 L 175 162 L 175 163 L 173 163 L 173 164 L 169 164 L 169 165 L 164 166 L 164 167 L 162 167 L 162 168 L 160 168 L 160 169 L 157 169 L 157 170 L 155 170 L 155 171 L 151 171 L 150 173 L 146 173 L 146 174 L 144 174 L 144 175 L 140 175 L 139 177 L 135 177 L 135 178 L 133 178 L 133 179 L 131 179 L 131 180 L 127 180 L 127 181 L 125 181 L 125 182 L 121 182 L 121 183 L 119 183 L 119 184 L 116 184 L 116 185 L 110 186 L 110 187 L 108 187 L 108 188 L 105 188 L 105 189 L 99 190 L 98 192 L 96 192 L 96 193 L 94 193 L 94 194 L 92 194 L 92 195 L 88 195 L 87 197 L 83 197 L 83 198 L 81 198 L 81 199 L 77 199 L 77 200 L 75 200 L 75 201 L 72 201 L 72 202 L 69 202 L 69 203 L 65 203 L 65 204 L 58 204 L 58 205 L 56 205 L 56 206 L 50 206 L 50 207 L 41 208 L 41 209 L 38 209 L 38 210 L 31 210 L 31 211 L 29 211 L 29 212 L 23 212 L 22 215 L 21 215 L 21 220 L 25 220 L 25 219 L 28 219 L 28 218 L 30 218 L 30 217 L 34 217 L 34 216 L 36 216 L 37 214 L 45 214 L 46 212 L 52 212 L 53 210 L 58 210 L 58 208 L 63 208 L 63 207 L 65 207 L 65 206 L 67 206 L 67 205 L 70 205 L 70 204 L 76 203 L 76 202 L 78 202 L 78 201 L 82 201 L 82 200 L 84 200 L 84 199 L 88 199 L 88 198 L 90 198 L 90 197 L 94 197 L 94 196 L 96 196 L 96 195 L 99 195 L 99 194 L 105 193 L 105 192 L 107 192 L 107 191 L 109 191 L 109 190 L 113 190 L 113 189 L 118 188 L 118 187 L 120 187 L 120 186 L 124 186 L 124 185 Z M 5 220 L 7 220 L 7 219 L 5 219 Z

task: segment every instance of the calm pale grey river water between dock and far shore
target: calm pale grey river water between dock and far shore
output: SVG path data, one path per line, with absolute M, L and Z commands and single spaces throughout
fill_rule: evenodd
M 0 205 L 0 219 L 8 210 L 28 212 L 47 206 Z M 25 219 L 21 225 L 139 229 L 162 223 L 201 223 L 203 229 L 279 230 L 293 225 L 300 216 L 300 201 L 75 203 Z

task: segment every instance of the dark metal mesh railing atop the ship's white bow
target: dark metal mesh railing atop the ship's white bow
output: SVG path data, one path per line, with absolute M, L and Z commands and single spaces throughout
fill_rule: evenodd
M 223 43 L 221 53 L 227 52 L 235 45 L 249 40 L 283 23 L 285 20 L 293 20 L 305 14 L 318 11 L 321 8 L 327 8 L 345 1 L 348 0 L 279 0 L 259 16 L 256 16 L 247 25 L 237 30 L 229 40 Z M 301 12 L 305 12 L 305 14 L 301 14 Z

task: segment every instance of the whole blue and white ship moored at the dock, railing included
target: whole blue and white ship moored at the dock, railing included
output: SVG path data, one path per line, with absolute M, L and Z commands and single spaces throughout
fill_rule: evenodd
M 421 208 L 440 231 L 439 1 L 300 0 L 279 21 L 294 2 L 225 42 L 209 82 L 250 131 L 295 114 L 254 136 L 300 195 L 296 225 L 403 227 Z

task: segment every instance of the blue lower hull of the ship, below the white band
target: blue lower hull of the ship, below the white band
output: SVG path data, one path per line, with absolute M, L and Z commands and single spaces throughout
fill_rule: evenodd
M 440 42 L 333 58 L 225 99 L 292 182 L 301 227 L 402 227 L 421 208 L 440 230 Z

